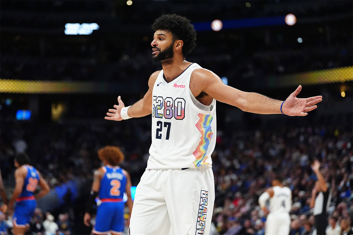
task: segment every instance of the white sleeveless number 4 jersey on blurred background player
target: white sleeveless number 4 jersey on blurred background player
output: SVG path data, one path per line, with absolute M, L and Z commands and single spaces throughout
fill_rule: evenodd
M 289 212 L 292 207 L 292 192 L 288 187 L 272 187 L 274 195 L 270 198 L 269 211 Z

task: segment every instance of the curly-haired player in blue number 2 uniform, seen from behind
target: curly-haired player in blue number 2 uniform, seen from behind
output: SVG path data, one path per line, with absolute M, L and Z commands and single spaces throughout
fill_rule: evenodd
M 99 197 L 93 233 L 119 235 L 124 231 L 124 192 L 127 194 L 130 216 L 132 211 L 130 175 L 119 167 L 124 155 L 118 147 L 101 148 L 98 150 L 98 157 L 104 166 L 94 172 L 91 195 L 83 221 L 86 226 L 90 226 L 92 205 L 96 203 L 96 197 Z M 130 218 L 127 226 L 129 220 Z

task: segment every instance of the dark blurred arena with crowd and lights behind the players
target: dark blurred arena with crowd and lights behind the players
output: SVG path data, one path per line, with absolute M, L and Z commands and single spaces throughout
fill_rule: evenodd
M 315 159 L 332 193 L 328 216 L 338 227 L 342 220 L 352 226 L 352 9 L 352 1 L 1 0 L 0 168 L 7 198 L 20 152 L 50 186 L 27 234 L 91 233 L 83 216 L 103 146 L 121 148 L 121 167 L 133 186 L 139 183 L 151 117 L 104 116 L 119 95 L 126 106 L 142 98 L 150 74 L 161 69 L 151 62 L 151 24 L 164 13 L 191 20 L 197 47 L 186 60 L 226 84 L 279 100 L 298 85 L 299 98 L 323 96 L 305 117 L 217 103 L 211 234 L 263 235 L 258 198 L 275 174 L 292 190 L 290 234 L 312 234 Z M 285 21 L 288 14 L 295 18 Z M 12 234 L 11 227 L 8 210 L 0 214 L 0 234 Z

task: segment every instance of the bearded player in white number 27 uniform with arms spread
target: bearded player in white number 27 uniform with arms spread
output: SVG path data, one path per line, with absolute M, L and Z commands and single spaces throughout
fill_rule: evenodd
M 167 14 L 152 25 L 153 73 L 144 97 L 109 109 L 105 119 L 120 121 L 152 113 L 152 144 L 145 173 L 136 189 L 131 235 L 209 234 L 215 199 L 211 154 L 216 142 L 216 100 L 243 111 L 305 116 L 321 96 L 285 101 L 239 91 L 185 56 L 196 47 L 196 32 L 185 17 Z M 210 42 L 217 47 L 217 42 Z

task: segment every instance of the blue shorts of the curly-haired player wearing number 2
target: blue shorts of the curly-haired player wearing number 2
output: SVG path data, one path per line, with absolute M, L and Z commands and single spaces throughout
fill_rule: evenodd
M 102 202 L 97 208 L 95 234 L 124 231 L 124 202 Z

